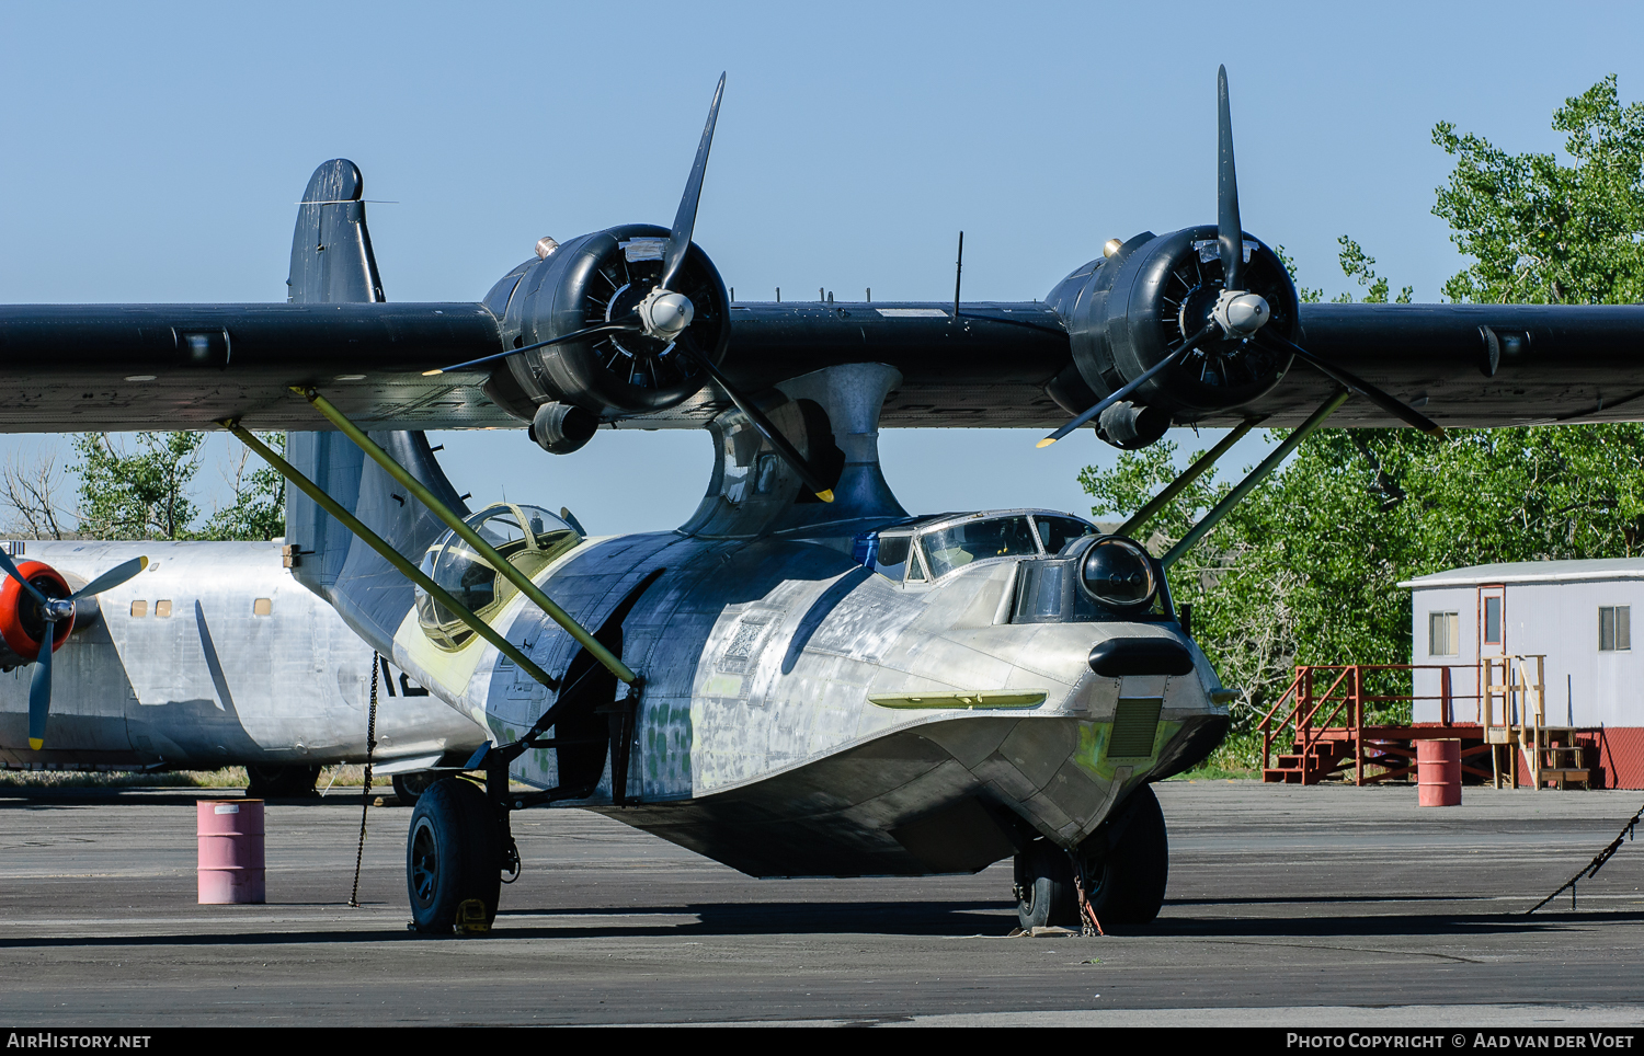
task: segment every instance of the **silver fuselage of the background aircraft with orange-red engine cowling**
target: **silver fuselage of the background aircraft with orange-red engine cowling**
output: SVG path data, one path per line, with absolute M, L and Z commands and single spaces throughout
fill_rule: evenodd
M 146 555 L 54 657 L 49 747 L 28 751 L 31 667 L 0 673 L 0 764 L 215 769 L 365 759 L 372 647 L 298 585 L 271 542 L 28 542 L 81 581 Z M 376 754 L 431 765 L 483 731 L 401 672 L 378 688 Z M 409 695 L 408 695 L 409 691 Z

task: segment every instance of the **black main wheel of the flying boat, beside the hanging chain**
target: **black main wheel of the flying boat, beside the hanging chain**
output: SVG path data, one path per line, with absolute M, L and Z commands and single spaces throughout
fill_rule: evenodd
M 478 898 L 496 918 L 501 836 L 496 813 L 473 782 L 446 777 L 418 797 L 406 836 L 406 888 L 418 931 L 450 934 L 457 908 Z

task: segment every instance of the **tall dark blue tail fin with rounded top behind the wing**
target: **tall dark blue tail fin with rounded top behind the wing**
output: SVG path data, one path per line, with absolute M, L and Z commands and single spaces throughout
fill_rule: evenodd
M 365 181 L 352 161 L 335 158 L 314 169 L 291 238 L 286 286 L 293 304 L 383 301 L 363 194 Z M 373 432 L 372 438 L 447 506 L 467 514 L 424 434 Z M 444 530 L 421 503 L 396 494 L 393 480 L 339 432 L 288 432 L 286 458 L 413 562 Z M 329 601 L 378 652 L 393 655 L 395 631 L 414 601 L 411 583 L 291 486 L 286 542 L 298 547 L 298 581 Z

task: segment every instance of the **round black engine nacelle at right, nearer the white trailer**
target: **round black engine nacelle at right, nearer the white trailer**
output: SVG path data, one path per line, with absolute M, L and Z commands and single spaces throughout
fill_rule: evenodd
M 1300 305 L 1284 263 L 1251 235 L 1245 253 L 1241 286 L 1272 312 L 1263 328 L 1299 340 Z M 1213 225 L 1162 236 L 1146 232 L 1062 279 L 1046 301 L 1067 322 L 1077 376 L 1057 378 L 1051 396 L 1077 414 L 1146 373 L 1210 322 L 1221 279 Z M 1289 353 L 1218 332 L 1129 396 L 1126 420 L 1111 422 L 1116 435 L 1100 429 L 1098 435 L 1116 447 L 1144 447 L 1164 432 L 1159 412 L 1187 424 L 1240 407 L 1269 393 L 1289 368 Z

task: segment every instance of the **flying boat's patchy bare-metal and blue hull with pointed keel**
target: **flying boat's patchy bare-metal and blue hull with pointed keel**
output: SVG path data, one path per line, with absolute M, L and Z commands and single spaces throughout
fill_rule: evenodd
M 1013 852 L 1011 818 L 1077 844 L 1226 711 L 1210 701 L 1213 670 L 1174 622 L 1009 622 L 1016 565 L 978 562 L 903 585 L 815 540 L 659 532 L 584 542 L 538 581 L 589 627 L 628 599 L 621 655 L 646 683 L 630 805 L 615 805 L 608 764 L 593 797 L 566 805 L 755 875 L 980 869 Z M 521 598 L 493 624 L 554 675 L 579 650 Z M 1098 642 L 1149 636 L 1187 645 L 1194 673 L 1092 672 Z M 395 659 L 503 742 L 551 703 L 483 642 L 431 645 L 414 614 Z M 940 696 L 978 691 L 1044 700 L 973 708 Z M 870 700 L 921 695 L 937 703 Z M 1162 701 L 1144 755 L 1108 751 L 1121 698 Z M 567 783 L 564 760 L 564 749 L 538 749 L 511 774 L 551 788 Z

